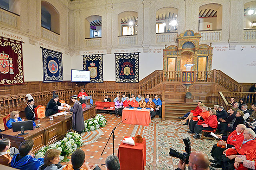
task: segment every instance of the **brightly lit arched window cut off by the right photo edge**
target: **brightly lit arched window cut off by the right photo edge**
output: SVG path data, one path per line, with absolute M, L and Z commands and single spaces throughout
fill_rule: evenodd
M 244 29 L 256 29 L 256 1 L 244 4 Z

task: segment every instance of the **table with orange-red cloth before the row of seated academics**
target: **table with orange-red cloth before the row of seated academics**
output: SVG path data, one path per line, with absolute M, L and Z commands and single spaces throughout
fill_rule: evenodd
M 126 120 L 124 121 L 124 119 Z M 124 108 L 122 111 L 122 121 L 126 124 L 148 126 L 151 122 L 150 109 L 142 108 L 141 110 L 137 110 L 137 108 Z

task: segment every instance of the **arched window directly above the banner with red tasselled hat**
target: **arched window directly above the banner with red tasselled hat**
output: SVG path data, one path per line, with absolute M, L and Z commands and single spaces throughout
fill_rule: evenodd
M 118 35 L 130 36 L 137 35 L 138 13 L 126 11 L 118 14 Z

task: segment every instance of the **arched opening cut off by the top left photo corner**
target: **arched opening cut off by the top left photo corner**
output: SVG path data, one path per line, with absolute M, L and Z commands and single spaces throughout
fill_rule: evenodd
M 0 0 L 0 8 L 20 15 L 20 0 Z

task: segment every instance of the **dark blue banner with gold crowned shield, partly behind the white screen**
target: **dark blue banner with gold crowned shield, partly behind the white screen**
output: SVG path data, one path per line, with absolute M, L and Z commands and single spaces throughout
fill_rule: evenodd
M 90 71 L 91 83 L 103 83 L 103 54 L 82 55 L 83 70 Z

